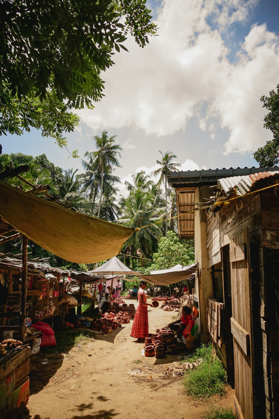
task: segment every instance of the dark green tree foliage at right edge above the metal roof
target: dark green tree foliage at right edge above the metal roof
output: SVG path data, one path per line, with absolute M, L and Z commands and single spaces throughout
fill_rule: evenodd
M 277 91 L 271 90 L 270 96 L 262 96 L 261 102 L 264 103 L 269 113 L 264 117 L 264 127 L 270 129 L 273 140 L 267 141 L 266 145 L 259 147 L 253 154 L 260 166 L 268 167 L 279 163 L 279 84 Z

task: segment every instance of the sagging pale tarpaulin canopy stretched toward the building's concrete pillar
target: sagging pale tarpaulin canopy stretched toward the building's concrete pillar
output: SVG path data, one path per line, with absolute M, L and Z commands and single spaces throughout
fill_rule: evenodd
M 175 270 L 174 270 L 175 268 Z M 196 264 L 187 266 L 173 266 L 170 269 L 153 271 L 150 275 L 138 275 L 139 278 L 155 285 L 170 285 L 188 279 L 196 270 Z M 154 274 L 156 272 L 156 274 Z

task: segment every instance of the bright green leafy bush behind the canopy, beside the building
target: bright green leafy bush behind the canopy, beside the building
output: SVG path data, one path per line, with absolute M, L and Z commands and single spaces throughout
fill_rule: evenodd
M 151 270 L 167 269 L 174 265 L 189 265 L 195 262 L 194 241 L 180 240 L 173 231 L 168 231 L 166 237 L 161 237 L 158 252 L 153 253 L 154 264 Z

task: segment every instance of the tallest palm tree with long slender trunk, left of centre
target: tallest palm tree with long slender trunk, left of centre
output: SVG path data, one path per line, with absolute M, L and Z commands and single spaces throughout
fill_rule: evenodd
M 116 137 L 116 135 L 108 137 L 108 131 L 102 131 L 100 137 L 99 135 L 94 135 L 92 137 L 92 139 L 95 140 L 97 147 L 97 150 L 92 151 L 92 165 L 95 168 L 97 167 L 99 173 L 101 174 L 98 218 L 100 217 L 100 210 L 102 204 L 104 172 L 106 174 L 110 174 L 115 170 L 116 167 L 121 167 L 118 161 L 118 157 L 121 157 L 119 151 L 122 150 L 122 147 L 120 147 L 119 144 L 114 144 Z M 91 152 L 87 153 L 89 155 Z

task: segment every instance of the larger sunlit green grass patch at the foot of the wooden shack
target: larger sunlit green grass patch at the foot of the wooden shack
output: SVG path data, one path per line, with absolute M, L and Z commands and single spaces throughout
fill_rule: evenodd
M 212 352 L 211 344 L 202 345 L 182 362 L 195 362 L 199 358 L 203 360 L 201 365 L 185 371 L 184 386 L 187 393 L 193 398 L 208 398 L 214 394 L 222 396 L 227 382 L 226 373 L 215 352 Z

